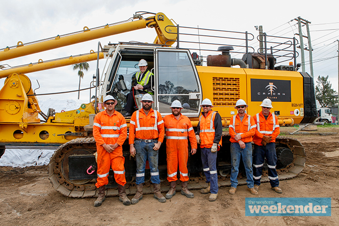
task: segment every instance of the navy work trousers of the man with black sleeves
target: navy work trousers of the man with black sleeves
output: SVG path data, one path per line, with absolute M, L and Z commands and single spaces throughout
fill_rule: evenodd
M 210 182 L 211 194 L 218 194 L 217 152 L 211 148 L 201 148 L 201 161 L 206 182 Z

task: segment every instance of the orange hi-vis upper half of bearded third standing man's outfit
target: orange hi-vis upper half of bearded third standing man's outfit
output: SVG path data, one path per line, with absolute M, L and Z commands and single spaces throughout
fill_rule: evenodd
M 163 121 L 166 131 L 166 146 L 168 148 L 176 148 L 172 147 L 171 141 L 182 140 L 187 142 L 189 137 L 191 148 L 197 149 L 196 135 L 191 120 L 187 116 L 180 114 L 179 120 L 177 120 L 173 114 L 169 114 L 164 117 Z

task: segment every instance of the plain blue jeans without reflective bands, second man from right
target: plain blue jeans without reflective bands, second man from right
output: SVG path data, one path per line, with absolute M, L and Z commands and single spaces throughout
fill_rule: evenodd
M 245 143 L 246 147 L 242 149 L 239 143 L 231 143 L 231 186 L 236 188 L 238 185 L 238 173 L 239 173 L 239 164 L 240 164 L 240 156 L 243 158 L 243 163 L 246 171 L 246 182 L 247 187 L 254 187 L 253 180 L 253 170 L 252 170 L 252 143 Z

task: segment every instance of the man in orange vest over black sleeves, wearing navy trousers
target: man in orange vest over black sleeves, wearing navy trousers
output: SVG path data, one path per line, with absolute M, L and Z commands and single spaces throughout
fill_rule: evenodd
M 204 99 L 201 102 L 202 113 L 197 126 L 197 142 L 201 148 L 201 161 L 208 187 L 200 193 L 211 193 L 208 200 L 215 201 L 218 197 L 217 150 L 222 145 L 223 124 L 219 113 L 212 111 L 212 102 Z

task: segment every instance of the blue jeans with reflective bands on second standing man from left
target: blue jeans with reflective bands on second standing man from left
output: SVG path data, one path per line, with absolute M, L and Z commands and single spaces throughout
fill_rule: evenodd
M 148 158 L 149 168 L 151 169 L 151 181 L 153 184 L 160 184 L 158 169 L 158 151 L 153 150 L 154 144 L 158 141 L 146 143 L 144 141 L 135 141 L 137 161 L 136 184 L 145 182 L 146 159 Z

